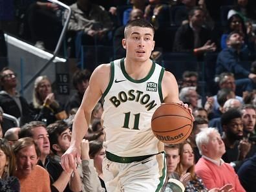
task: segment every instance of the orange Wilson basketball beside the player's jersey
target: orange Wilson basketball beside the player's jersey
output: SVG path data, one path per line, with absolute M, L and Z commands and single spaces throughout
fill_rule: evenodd
M 151 119 L 156 138 L 166 144 L 179 144 L 192 131 L 193 118 L 188 109 L 177 103 L 164 103 L 154 112 Z

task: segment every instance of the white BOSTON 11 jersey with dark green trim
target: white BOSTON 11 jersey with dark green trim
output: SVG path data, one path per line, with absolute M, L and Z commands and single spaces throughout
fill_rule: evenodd
M 164 68 L 153 62 L 145 78 L 134 80 L 125 72 L 124 58 L 111 62 L 102 114 L 108 152 L 129 157 L 164 151 L 151 130 L 153 113 L 163 102 L 163 75 Z

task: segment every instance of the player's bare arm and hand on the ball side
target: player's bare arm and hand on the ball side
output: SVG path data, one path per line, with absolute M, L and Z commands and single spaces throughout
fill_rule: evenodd
M 175 76 L 169 71 L 164 72 L 164 77 L 162 80 L 162 93 L 164 103 L 179 103 L 180 105 L 183 105 L 186 109 L 189 109 L 189 112 L 194 120 L 192 109 L 190 109 L 187 104 L 184 104 L 183 101 L 180 101 L 178 98 L 178 83 Z

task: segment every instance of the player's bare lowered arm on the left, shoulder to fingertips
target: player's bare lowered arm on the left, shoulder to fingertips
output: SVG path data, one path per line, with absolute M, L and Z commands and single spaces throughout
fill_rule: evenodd
M 110 76 L 110 65 L 100 65 L 97 67 L 89 81 L 89 87 L 83 95 L 81 105 L 74 117 L 72 126 L 72 138 L 69 149 L 61 157 L 61 166 L 67 172 L 76 168 L 76 160 L 80 161 L 80 144 L 83 136 L 87 133 L 91 121 L 92 109 L 105 91 Z

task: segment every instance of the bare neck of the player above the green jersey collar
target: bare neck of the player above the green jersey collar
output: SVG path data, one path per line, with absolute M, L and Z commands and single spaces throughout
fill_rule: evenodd
M 152 67 L 152 61 L 147 60 L 145 62 L 134 62 L 129 59 L 125 59 L 125 72 L 134 80 L 141 80 L 149 74 Z

